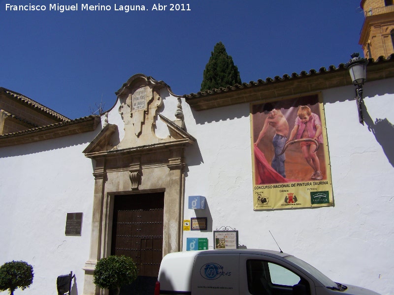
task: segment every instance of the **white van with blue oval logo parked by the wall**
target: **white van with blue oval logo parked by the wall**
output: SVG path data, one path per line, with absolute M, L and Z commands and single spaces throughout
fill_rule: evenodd
M 269 250 L 207 250 L 164 256 L 155 295 L 379 295 L 331 281 L 289 254 Z

